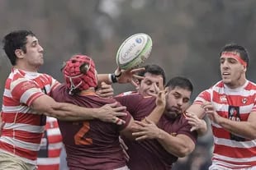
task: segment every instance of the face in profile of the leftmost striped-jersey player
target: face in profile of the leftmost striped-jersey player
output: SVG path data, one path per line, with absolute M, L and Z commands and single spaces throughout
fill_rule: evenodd
M 28 35 L 26 43 L 26 53 L 24 53 L 24 61 L 26 67 L 31 69 L 37 69 L 44 64 L 44 49 L 40 46 L 38 39 L 35 36 Z

